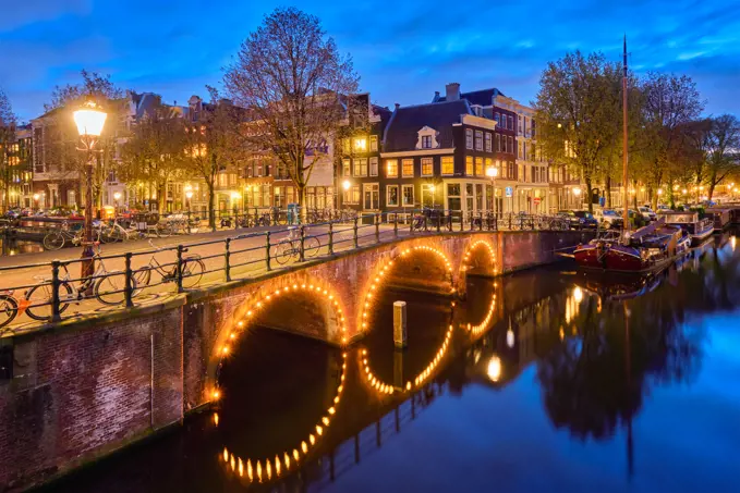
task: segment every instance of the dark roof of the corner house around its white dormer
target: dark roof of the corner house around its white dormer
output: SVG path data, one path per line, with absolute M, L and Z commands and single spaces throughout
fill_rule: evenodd
M 441 148 L 454 147 L 452 125 L 460 123 L 462 114 L 472 114 L 465 100 L 399 107 L 386 127 L 383 150 L 393 152 L 415 149 L 417 132 L 424 126 L 439 132 L 437 141 Z

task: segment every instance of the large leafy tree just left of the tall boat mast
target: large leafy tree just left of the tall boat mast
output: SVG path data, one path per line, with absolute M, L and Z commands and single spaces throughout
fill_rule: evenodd
M 621 120 L 618 73 L 602 53 L 575 51 L 548 63 L 539 79 L 537 139 L 548 158 L 565 162 L 584 181 L 590 211 L 599 163 Z

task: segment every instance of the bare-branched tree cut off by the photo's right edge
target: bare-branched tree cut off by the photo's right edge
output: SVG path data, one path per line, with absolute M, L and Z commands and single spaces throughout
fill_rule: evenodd
M 732 114 L 709 119 L 705 141 L 708 198 L 712 200 L 715 187 L 730 173 L 740 171 L 740 121 Z

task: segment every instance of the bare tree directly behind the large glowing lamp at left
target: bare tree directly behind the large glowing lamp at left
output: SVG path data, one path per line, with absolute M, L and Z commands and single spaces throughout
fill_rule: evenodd
M 46 159 L 56 163 L 59 180 L 82 177 L 87 172 L 86 158 L 76 150 L 80 137 L 72 113 L 87 98 L 100 104 L 108 113 L 106 126 L 96 143 L 97 150 L 101 152 L 93 174 L 93 201 L 100 207 L 106 177 L 114 165 L 118 124 L 122 112 L 125 111 L 125 106 L 121 101 L 124 93 L 113 85 L 110 76 L 86 70 L 80 74 L 82 82 L 56 86 L 51 93 L 51 101 L 44 104 L 47 118 L 53 120 L 50 127 L 52 145 L 46 146 Z

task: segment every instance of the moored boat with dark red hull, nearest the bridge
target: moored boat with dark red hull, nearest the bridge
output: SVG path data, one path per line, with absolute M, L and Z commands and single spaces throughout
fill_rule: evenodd
M 627 238 L 604 237 L 579 245 L 573 258 L 583 269 L 648 273 L 667 267 L 690 248 L 691 235 L 679 226 L 666 224 L 665 218 L 660 218 Z

